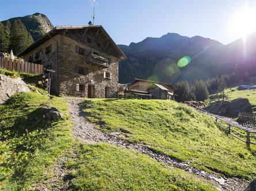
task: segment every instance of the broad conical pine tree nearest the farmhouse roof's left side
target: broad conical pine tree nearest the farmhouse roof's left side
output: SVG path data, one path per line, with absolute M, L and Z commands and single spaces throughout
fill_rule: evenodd
M 15 20 L 11 29 L 10 48 L 14 54 L 22 52 L 26 47 L 33 43 L 31 35 L 20 20 Z

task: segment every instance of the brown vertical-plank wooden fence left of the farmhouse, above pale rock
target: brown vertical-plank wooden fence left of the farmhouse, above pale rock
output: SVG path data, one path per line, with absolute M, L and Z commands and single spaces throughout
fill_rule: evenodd
M 12 60 L 7 57 L 0 57 L 0 68 L 7 69 L 9 71 L 32 73 L 37 75 L 44 73 L 44 66 L 41 64 Z

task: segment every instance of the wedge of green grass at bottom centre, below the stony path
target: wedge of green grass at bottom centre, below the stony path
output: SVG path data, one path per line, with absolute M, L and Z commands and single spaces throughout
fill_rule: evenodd
M 70 190 L 213 190 L 199 183 L 209 182 L 137 151 L 98 143 L 82 144 L 76 152 L 66 163 Z

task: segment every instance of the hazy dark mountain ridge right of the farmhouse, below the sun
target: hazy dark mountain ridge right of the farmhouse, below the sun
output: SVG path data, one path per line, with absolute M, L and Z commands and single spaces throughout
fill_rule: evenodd
M 160 38 L 147 37 L 129 46 L 119 45 L 127 60 L 119 64 L 119 82 L 129 83 L 134 78 L 155 79 L 166 83 L 178 80 L 193 81 L 216 75 L 248 72 L 256 75 L 256 33 L 224 45 L 200 36 L 185 37 L 167 33 Z M 246 53 L 246 54 L 244 54 Z M 185 67 L 177 67 L 182 57 L 191 59 Z

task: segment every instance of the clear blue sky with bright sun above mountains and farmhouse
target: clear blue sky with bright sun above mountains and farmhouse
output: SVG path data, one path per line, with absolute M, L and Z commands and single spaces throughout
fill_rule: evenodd
M 0 20 L 38 12 L 54 26 L 87 25 L 93 7 L 94 24 L 102 25 L 116 44 L 129 45 L 168 32 L 228 44 L 242 36 L 238 31 L 246 28 L 241 26 L 244 20 L 248 31 L 256 32 L 255 21 L 246 17 L 237 21 L 244 7 L 256 13 L 255 0 L 0 0 Z

